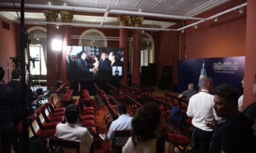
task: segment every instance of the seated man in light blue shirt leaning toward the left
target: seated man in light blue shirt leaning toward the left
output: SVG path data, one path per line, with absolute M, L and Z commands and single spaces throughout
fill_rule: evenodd
M 118 115 L 118 119 L 114 120 L 111 123 L 109 127 L 109 131 L 106 134 L 106 136 L 99 134 L 101 138 L 103 139 L 108 138 L 108 140 L 111 140 L 115 131 L 132 129 L 132 126 L 131 126 L 132 117 L 130 117 L 130 115 L 127 114 L 126 106 L 122 103 L 118 103 L 118 105 L 116 106 L 116 112 Z

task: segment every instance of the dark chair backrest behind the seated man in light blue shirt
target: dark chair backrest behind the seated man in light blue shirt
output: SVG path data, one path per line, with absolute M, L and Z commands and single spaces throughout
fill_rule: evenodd
M 112 148 L 122 148 L 131 136 L 131 130 L 115 131 L 111 139 Z

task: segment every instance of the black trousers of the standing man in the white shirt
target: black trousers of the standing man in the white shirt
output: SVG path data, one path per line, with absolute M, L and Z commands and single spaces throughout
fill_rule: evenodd
M 204 131 L 195 127 L 195 153 L 208 153 L 213 131 Z

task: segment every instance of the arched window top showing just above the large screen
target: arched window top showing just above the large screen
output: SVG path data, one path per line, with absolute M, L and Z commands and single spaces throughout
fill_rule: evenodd
M 81 34 L 78 45 L 108 47 L 108 41 L 101 31 L 97 29 L 88 29 Z

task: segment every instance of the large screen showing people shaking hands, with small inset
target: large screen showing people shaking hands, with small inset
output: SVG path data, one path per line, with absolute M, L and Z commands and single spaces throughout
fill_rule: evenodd
M 67 78 L 72 80 L 113 80 L 122 77 L 122 48 L 67 47 Z

